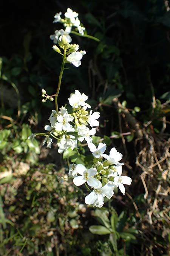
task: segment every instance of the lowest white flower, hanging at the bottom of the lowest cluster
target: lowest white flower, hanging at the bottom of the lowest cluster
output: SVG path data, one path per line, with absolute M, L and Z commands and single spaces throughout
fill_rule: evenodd
M 104 197 L 110 199 L 113 196 L 113 186 L 106 184 L 104 187 L 100 185 L 85 197 L 86 204 L 93 204 L 96 207 L 102 207 L 104 205 Z

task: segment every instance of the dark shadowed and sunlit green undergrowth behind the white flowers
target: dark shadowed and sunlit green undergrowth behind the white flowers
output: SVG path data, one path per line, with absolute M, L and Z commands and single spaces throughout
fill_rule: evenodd
M 64 71 L 59 106 L 78 89 L 100 112 L 94 142 L 122 152 L 126 195 L 84 204 L 55 144 L 42 147 L 62 63 L 49 36 L 70 7 L 88 35 Z M 170 12 L 168 1 L 0 2 L 0 255 L 170 255 Z M 83 149 L 82 149 L 83 153 Z M 93 225 L 93 226 L 91 226 Z

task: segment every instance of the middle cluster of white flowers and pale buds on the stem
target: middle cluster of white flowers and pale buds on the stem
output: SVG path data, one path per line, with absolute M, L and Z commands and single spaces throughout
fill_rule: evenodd
M 56 110 L 52 111 L 49 117 L 51 125 L 45 126 L 45 130 L 49 134 L 46 135 L 44 144 L 47 143 L 47 146 L 51 148 L 51 137 L 56 138 L 58 140 L 58 152 L 61 154 L 68 148 L 72 150 L 77 148 L 77 140 L 80 142 L 85 140 L 87 143 L 91 143 L 91 135 L 96 133 L 94 127 L 99 126 L 99 121 L 96 119 L 100 115 L 99 112 L 92 113 L 92 110 L 90 112 L 87 110 L 87 108 L 91 108 L 85 102 L 87 99 L 88 97 L 84 93 L 81 94 L 78 90 L 75 90 L 75 93 L 68 99 L 73 109 L 72 113 L 69 114 L 66 107 L 61 107 L 58 114 Z M 92 128 L 90 129 L 88 125 Z

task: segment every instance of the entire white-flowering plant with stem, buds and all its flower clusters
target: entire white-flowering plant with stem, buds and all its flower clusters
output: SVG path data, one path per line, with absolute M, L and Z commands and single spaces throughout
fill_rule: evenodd
M 99 143 L 97 148 L 93 144 L 91 136 L 96 133 L 96 127 L 99 126 L 97 119 L 99 119 L 100 114 L 90 110 L 91 106 L 87 103 L 87 95 L 75 90 L 75 93 L 68 98 L 72 111 L 69 113 L 68 109 L 70 108 L 67 109 L 66 105 L 58 110 L 57 97 L 65 63 L 72 63 L 78 67 L 81 64 L 80 60 L 83 55 L 86 54 L 85 51 L 78 51 L 78 44 L 70 44 L 72 41 L 70 33 L 73 27 L 79 31 L 79 34 L 84 35 L 85 28 L 80 25 L 78 13 L 68 8 L 65 13 L 65 19 L 61 18 L 61 14 L 60 12 L 55 15 L 54 22 L 62 23 L 65 30 L 56 30 L 55 34 L 51 35 L 50 38 L 54 40 L 54 43 L 58 43 L 60 49 L 63 50 L 63 53 L 61 53 L 59 47 L 53 46 L 53 50 L 62 55 L 63 62 L 56 94 L 50 96 L 44 89 L 42 90 L 42 102 L 46 102 L 48 99 L 53 101 L 53 96 L 55 96 L 56 105 L 56 110 L 52 110 L 48 119 L 50 125 L 46 125 L 46 133 L 42 133 L 42 135 L 45 135 L 43 144 L 46 143 L 47 147 L 51 148 L 52 138 L 57 140 L 58 152 L 60 154 L 63 153 L 63 158 L 68 158 L 68 162 L 69 159 L 72 162 L 72 164 L 69 163 L 68 176 L 73 178 L 74 185 L 85 184 L 90 190 L 90 194 L 85 197 L 85 203 L 102 207 L 104 197 L 110 199 L 114 194 L 115 188 L 119 187 L 120 191 L 125 194 L 124 184 L 130 185 L 131 178 L 122 176 L 122 165 L 124 165 L 120 163 L 122 154 L 117 152 L 116 148 L 112 148 L 109 155 L 107 155 L 105 154 L 105 143 Z M 74 33 L 77 32 L 74 31 Z M 94 37 L 91 38 L 96 39 Z M 88 145 L 91 155 L 88 155 L 87 159 L 83 155 L 82 159 L 79 159 L 80 163 L 78 156 L 80 157 L 81 154 L 78 149 L 83 141 L 85 141 L 84 145 Z M 77 160 L 79 162 L 76 162 Z M 63 183 L 64 178 L 58 178 Z

